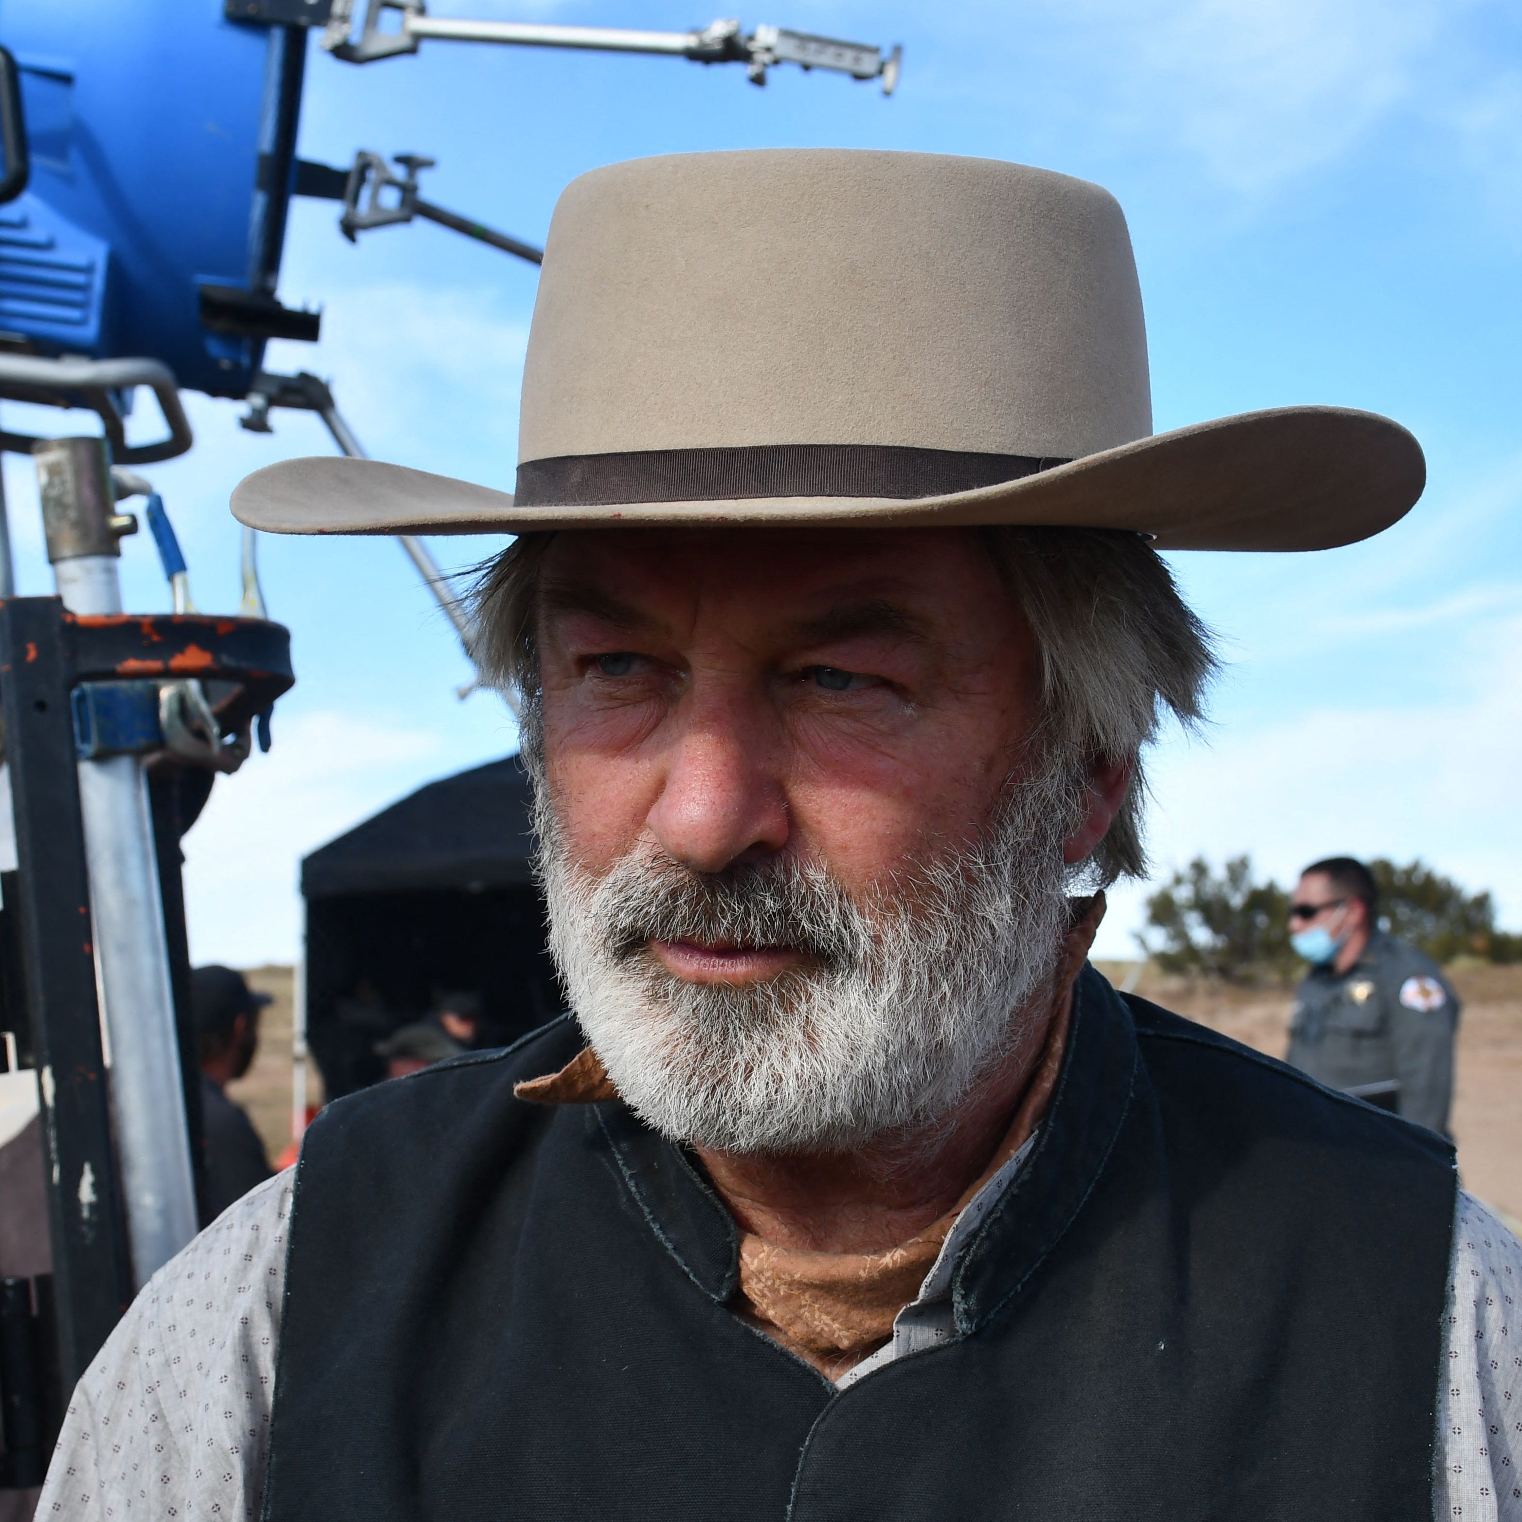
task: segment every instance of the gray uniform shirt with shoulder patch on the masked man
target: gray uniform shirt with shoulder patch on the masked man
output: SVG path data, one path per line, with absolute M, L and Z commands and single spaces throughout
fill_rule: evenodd
M 1306 976 L 1289 1061 L 1329 1088 L 1447 1135 L 1458 1012 L 1432 957 L 1376 933 L 1347 973 L 1317 966 Z

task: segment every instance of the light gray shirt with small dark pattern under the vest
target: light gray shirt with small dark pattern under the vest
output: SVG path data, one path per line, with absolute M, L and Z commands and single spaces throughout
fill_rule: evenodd
M 965 1216 L 992 1205 L 1021 1157 L 988 1181 Z M 40 1522 L 257 1519 L 289 1215 L 286 1172 L 237 1201 L 148 1282 L 75 1390 Z M 970 1234 L 953 1228 L 892 1341 L 842 1383 L 948 1335 L 948 1265 Z M 1437 1522 L 1522 1522 L 1522 1323 L 1511 1332 L 1519 1286 L 1522 1243 L 1461 1193 L 1438 1388 Z

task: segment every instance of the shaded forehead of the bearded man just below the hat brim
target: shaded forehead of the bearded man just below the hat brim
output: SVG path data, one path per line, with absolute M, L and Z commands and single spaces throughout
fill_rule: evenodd
M 556 534 L 539 568 L 540 616 L 636 612 L 682 627 L 813 618 L 872 606 L 906 635 L 954 635 L 1009 592 L 970 528 L 686 528 Z

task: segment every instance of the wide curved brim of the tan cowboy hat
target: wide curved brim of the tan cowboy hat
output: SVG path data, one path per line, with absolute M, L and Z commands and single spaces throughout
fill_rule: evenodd
M 556 528 L 1125 528 L 1158 549 L 1332 549 L 1388 528 L 1426 484 L 1422 446 L 1376 412 L 1289 406 L 1154 434 L 1017 481 L 935 498 L 746 498 L 514 507 L 507 492 L 376 460 L 285 460 L 233 514 L 275 534 L 517 534 Z

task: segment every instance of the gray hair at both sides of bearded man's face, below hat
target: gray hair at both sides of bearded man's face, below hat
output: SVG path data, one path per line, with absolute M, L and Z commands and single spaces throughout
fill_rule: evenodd
M 1100 528 L 977 530 L 1041 650 L 1036 740 L 1071 775 L 1131 761 L 1131 785 L 1085 863 L 1088 886 L 1143 877 L 1143 749 L 1164 714 L 1186 729 L 1204 718 L 1218 670 L 1210 630 L 1178 592 L 1167 563 L 1140 534 Z M 542 693 L 534 639 L 539 563 L 552 533 L 519 536 L 470 594 L 475 658 L 487 680 L 524 699 L 524 761 L 542 767 Z

